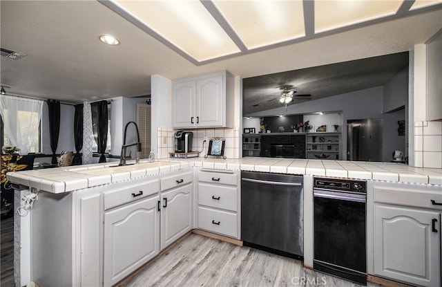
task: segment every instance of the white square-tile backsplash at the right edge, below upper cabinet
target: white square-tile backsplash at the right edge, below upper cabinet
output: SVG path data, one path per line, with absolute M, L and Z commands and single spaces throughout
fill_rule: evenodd
M 442 122 L 414 122 L 414 167 L 442 168 Z

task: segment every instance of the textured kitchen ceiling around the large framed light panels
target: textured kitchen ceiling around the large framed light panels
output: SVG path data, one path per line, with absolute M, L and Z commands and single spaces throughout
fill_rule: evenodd
M 356 12 L 338 17 L 334 6 L 326 8 L 328 12 L 320 12 L 318 7 L 323 2 L 347 1 L 260 1 L 294 6 L 280 15 L 289 18 L 291 34 L 261 41 L 258 36 L 265 36 L 261 33 L 264 28 L 254 26 L 260 12 L 248 3 L 255 1 L 191 1 L 227 35 L 222 39 L 233 43 L 233 52 L 212 55 L 215 49 L 207 46 L 209 40 L 186 39 L 184 24 L 177 22 L 179 17 L 164 10 L 170 7 L 157 7 L 162 2 L 166 1 L 0 1 L 0 46 L 26 54 L 21 59 L 1 56 L 0 84 L 8 86 L 6 93 L 11 95 L 73 103 L 135 97 L 150 94 L 150 76 L 155 74 L 176 79 L 227 69 L 249 78 L 296 71 L 401 53 L 425 43 L 442 28 L 440 0 L 373 1 L 388 2 L 396 8 L 381 17 L 329 24 L 329 28 L 320 28 L 318 22 L 343 20 Z M 145 22 L 141 15 L 119 6 L 122 3 L 153 5 L 149 17 L 156 16 L 155 25 L 160 26 Z M 179 12 L 184 18 L 200 16 L 184 8 Z M 271 9 L 267 8 L 264 15 L 270 17 Z M 267 22 L 262 21 L 262 25 Z M 172 28 L 186 39 L 187 46 L 166 36 L 161 27 Z M 249 28 L 260 33 L 249 34 Z M 115 35 L 121 43 L 106 46 L 98 40 L 102 34 Z M 193 53 L 197 48 L 206 55 Z

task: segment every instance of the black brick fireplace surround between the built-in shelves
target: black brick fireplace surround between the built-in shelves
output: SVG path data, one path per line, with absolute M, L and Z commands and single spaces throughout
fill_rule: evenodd
M 261 136 L 261 153 L 260 156 L 270 157 L 271 145 L 294 145 L 294 158 L 305 158 L 305 133 L 283 134 L 263 134 Z

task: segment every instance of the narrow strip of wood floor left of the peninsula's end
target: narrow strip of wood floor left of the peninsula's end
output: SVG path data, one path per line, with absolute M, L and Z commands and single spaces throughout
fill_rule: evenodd
M 0 223 L 0 286 L 14 286 L 14 218 Z

